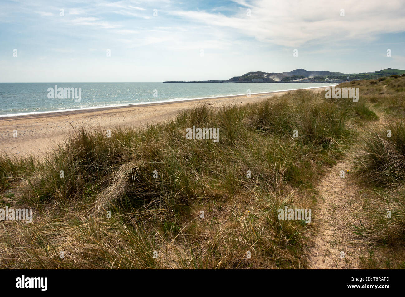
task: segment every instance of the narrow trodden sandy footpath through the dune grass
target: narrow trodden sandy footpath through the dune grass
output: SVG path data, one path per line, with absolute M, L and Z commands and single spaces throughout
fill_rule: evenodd
M 348 179 L 352 156 L 346 156 L 328 168 L 317 185 L 319 194 L 316 208 L 312 211 L 315 227 L 310 238 L 307 268 L 359 268 L 359 255 L 365 247 L 364 242 L 353 233 L 353 226 L 361 223 L 354 216 L 361 209 L 361 201 L 358 199 L 358 186 Z M 345 174 L 344 178 L 341 171 Z

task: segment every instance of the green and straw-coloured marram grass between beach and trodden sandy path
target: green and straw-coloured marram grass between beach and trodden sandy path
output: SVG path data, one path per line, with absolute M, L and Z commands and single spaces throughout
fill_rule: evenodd
M 46 160 L 2 156 L 0 208 L 32 207 L 34 222 L 1 221 L 0 267 L 303 268 L 310 224 L 277 209 L 315 206 L 325 166 L 376 118 L 369 104 L 296 91 L 111 137 L 75 127 Z M 186 139 L 193 125 L 220 141 Z

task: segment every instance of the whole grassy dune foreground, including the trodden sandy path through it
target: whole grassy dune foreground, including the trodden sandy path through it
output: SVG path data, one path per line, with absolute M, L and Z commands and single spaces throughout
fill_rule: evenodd
M 370 109 L 380 120 L 386 108 L 405 113 L 405 93 L 392 91 L 399 84 L 354 82 L 356 103 L 294 91 L 252 104 L 195 104 L 174 120 L 111 136 L 77 128 L 38 162 L 0 156 L 0 209 L 34 214 L 32 224 L 2 222 L 0 267 L 405 267 L 405 187 L 392 189 L 387 178 L 405 181 L 405 126 L 392 126 L 387 139 Z M 220 141 L 186 137 L 193 126 L 220 128 Z M 388 187 L 364 186 L 367 177 Z M 312 209 L 311 222 L 279 217 L 285 209 Z

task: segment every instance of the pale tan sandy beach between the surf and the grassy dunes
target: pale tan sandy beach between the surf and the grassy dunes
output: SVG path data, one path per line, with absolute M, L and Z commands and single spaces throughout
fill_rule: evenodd
M 325 86 L 326 87 L 326 86 Z M 312 91 L 325 87 L 313 88 Z M 60 143 L 72 126 L 100 125 L 106 129 L 113 126 L 142 126 L 147 123 L 174 118 L 180 110 L 192 106 L 210 103 L 246 104 L 286 93 L 287 91 L 246 95 L 216 97 L 166 103 L 150 103 L 122 107 L 107 107 L 93 110 L 75 110 L 26 116 L 0 118 L 0 153 L 9 155 L 33 154 L 41 156 Z M 13 131 L 17 130 L 17 137 Z

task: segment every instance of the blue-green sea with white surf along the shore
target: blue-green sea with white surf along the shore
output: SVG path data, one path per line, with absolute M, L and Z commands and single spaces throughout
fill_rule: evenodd
M 49 88 L 80 88 L 81 99 L 58 99 Z M 327 86 L 323 83 L 0 83 L 0 117 L 142 103 L 181 101 Z M 78 92 L 77 92 L 77 95 Z M 50 98 L 51 97 L 51 98 Z M 57 97 L 57 96 L 56 96 Z

